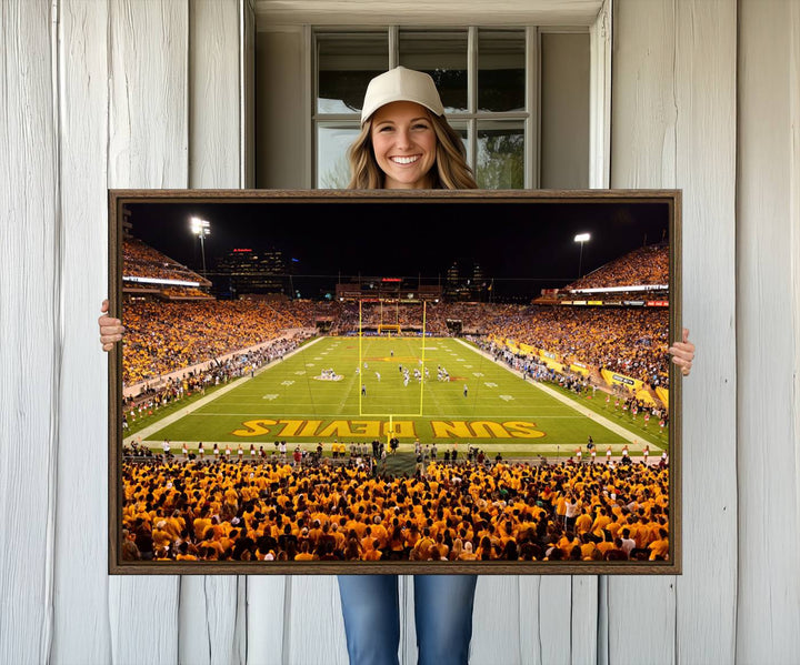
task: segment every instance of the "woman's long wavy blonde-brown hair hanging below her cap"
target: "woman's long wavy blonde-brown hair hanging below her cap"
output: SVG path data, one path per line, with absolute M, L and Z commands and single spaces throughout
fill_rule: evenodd
M 430 170 L 434 190 L 476 190 L 478 183 L 467 163 L 461 137 L 444 115 L 428 113 L 437 137 L 436 164 Z M 382 190 L 386 178 L 372 150 L 372 118 L 361 125 L 361 132 L 348 149 L 350 163 L 349 190 Z

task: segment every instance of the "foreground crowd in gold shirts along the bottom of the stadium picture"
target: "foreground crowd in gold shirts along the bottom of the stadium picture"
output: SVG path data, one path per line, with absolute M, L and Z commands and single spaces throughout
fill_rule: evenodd
M 250 451 L 252 454 L 252 450 Z M 664 561 L 669 466 L 122 464 L 128 561 Z

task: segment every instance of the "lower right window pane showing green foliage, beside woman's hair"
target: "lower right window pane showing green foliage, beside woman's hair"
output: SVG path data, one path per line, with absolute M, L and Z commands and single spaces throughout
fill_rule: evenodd
M 478 187 L 487 190 L 524 188 L 524 129 L 519 121 L 478 123 Z

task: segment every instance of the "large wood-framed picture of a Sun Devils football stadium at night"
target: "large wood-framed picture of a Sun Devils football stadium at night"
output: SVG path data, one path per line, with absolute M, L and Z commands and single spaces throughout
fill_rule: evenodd
M 110 313 L 127 326 L 109 354 L 109 572 L 680 574 L 681 375 L 666 352 L 680 256 L 679 190 L 109 190 Z M 589 554 L 592 537 L 549 546 L 579 531 L 579 508 L 560 514 L 570 488 L 594 538 L 600 507 L 606 531 L 634 532 L 634 558 Z M 332 511 L 344 532 L 371 516 L 381 557 L 330 558 Z M 396 517 L 419 534 L 384 535 Z M 433 552 L 426 525 L 439 555 L 469 540 L 513 556 L 511 536 L 526 558 L 414 558 Z M 489 533 L 500 547 L 481 547 Z M 303 540 L 326 558 L 283 560 Z

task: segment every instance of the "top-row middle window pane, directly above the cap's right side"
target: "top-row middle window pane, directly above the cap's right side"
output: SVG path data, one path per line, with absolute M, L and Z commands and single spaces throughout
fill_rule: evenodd
M 439 89 L 446 113 L 467 104 L 467 31 L 400 31 L 400 64 L 429 73 Z

